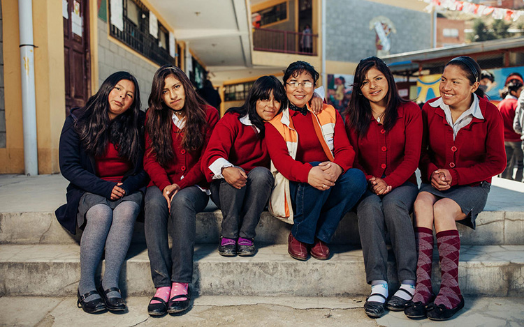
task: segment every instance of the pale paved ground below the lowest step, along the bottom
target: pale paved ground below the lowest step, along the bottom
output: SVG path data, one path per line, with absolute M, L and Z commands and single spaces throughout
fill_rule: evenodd
M 523 298 L 466 298 L 450 321 L 410 320 L 402 312 L 370 319 L 365 298 L 202 296 L 182 315 L 147 315 L 148 298 L 128 298 L 129 312 L 87 314 L 75 298 L 0 298 L 0 326 L 524 326 Z M 27 314 L 27 312 L 31 312 Z

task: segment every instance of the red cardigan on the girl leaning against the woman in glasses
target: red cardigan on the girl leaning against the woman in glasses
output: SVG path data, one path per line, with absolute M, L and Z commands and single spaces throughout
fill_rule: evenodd
M 225 114 L 217 126 L 214 126 L 202 160 L 202 171 L 208 182 L 214 176 L 209 167 L 219 158 L 228 160 L 245 172 L 254 167 L 269 169 L 270 160 L 265 140 L 260 137 L 255 126 L 244 125 L 239 119 L 240 114 Z

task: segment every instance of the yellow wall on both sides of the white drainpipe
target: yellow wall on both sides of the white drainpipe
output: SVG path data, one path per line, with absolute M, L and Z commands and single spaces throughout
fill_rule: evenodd
M 0 174 L 23 174 L 18 1 L 2 0 L 1 6 L 6 149 L 0 149 Z M 65 119 L 64 27 L 61 20 L 61 1 L 33 1 L 33 13 L 34 43 L 37 46 L 34 59 L 38 173 L 51 174 L 59 171 L 58 142 Z

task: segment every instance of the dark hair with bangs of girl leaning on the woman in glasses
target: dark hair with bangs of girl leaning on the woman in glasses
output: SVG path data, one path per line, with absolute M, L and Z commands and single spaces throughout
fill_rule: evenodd
M 259 136 L 264 137 L 264 121 L 259 114 L 256 113 L 256 101 L 268 100 L 271 96 L 271 92 L 273 93 L 275 100 L 280 102 L 279 114 L 282 112 L 282 109 L 284 109 L 284 104 L 287 100 L 286 91 L 284 91 L 282 83 L 273 75 L 262 76 L 259 77 L 259 79 L 256 79 L 249 90 L 249 93 L 247 93 L 247 98 L 242 107 L 231 107 L 226 113 L 235 112 L 240 114 L 240 117 L 247 114 L 251 123 L 259 128 Z

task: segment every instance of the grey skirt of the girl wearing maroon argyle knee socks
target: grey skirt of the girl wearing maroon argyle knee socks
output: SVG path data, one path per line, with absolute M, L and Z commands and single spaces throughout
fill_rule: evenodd
M 466 218 L 459 220 L 463 225 L 475 229 L 476 216 L 483 211 L 488 200 L 488 193 L 490 192 L 491 184 L 482 181 L 478 186 L 453 186 L 449 190 L 439 191 L 431 186 L 431 184 L 422 183 L 419 192 L 429 192 L 436 197 L 446 197 L 455 201 Z

